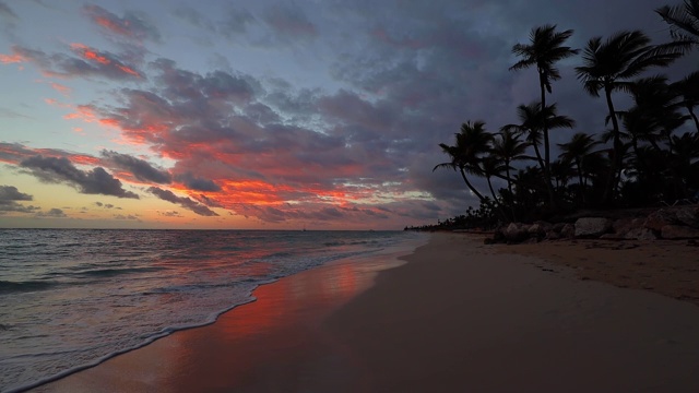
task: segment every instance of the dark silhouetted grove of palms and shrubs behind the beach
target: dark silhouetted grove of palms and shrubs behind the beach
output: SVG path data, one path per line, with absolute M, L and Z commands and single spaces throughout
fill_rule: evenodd
M 623 31 L 574 49 L 566 45 L 572 31 L 544 25 L 531 31 L 529 43 L 516 44 L 519 61 L 510 70 L 537 70 L 538 99 L 517 108 L 518 123 L 488 131 L 483 121 L 469 120 L 453 144 L 439 144 L 449 159 L 434 170 L 458 171 L 479 201 L 478 209 L 469 206 L 465 215 L 439 225 L 484 227 L 582 209 L 697 202 L 699 70 L 677 81 L 662 71 L 699 49 L 699 0 L 655 13 L 668 25 L 667 43 Z M 552 83 L 561 79 L 557 64 L 579 53 L 574 72 L 584 92 L 604 99 L 600 116 L 608 129 L 574 130 L 568 142 L 556 144 L 554 157 L 550 133 L 574 129 L 576 121 L 549 103 Z M 485 178 L 486 191 L 477 178 Z

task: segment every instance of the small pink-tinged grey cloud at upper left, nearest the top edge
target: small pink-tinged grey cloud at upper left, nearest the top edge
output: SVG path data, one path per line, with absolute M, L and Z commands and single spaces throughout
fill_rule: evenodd
M 83 12 L 102 28 L 102 32 L 138 41 L 161 41 L 161 34 L 155 25 L 138 12 L 127 11 L 123 16 L 118 16 L 95 4 L 84 5 Z

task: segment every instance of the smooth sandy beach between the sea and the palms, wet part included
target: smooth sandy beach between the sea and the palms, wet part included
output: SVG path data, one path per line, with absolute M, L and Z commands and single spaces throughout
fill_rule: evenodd
M 627 257 L 639 248 L 607 250 L 608 262 L 639 261 Z M 435 234 L 399 267 L 283 278 L 212 325 L 37 391 L 698 392 L 699 307 L 577 267 L 602 251 Z

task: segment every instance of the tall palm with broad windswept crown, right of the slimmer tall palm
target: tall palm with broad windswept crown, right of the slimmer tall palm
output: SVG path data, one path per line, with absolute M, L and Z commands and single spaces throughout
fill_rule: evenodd
M 593 37 L 588 41 L 582 56 L 583 66 L 576 67 L 576 72 L 590 95 L 599 97 L 600 91 L 604 91 L 608 116 L 612 120 L 614 156 L 603 196 L 607 202 L 614 199 L 616 179 L 621 170 L 624 148 L 612 93 L 617 90 L 628 90 L 629 79 L 638 76 L 651 67 L 667 67 L 680 56 L 682 48 L 651 45 L 651 39 L 641 31 L 619 32 L 604 43 L 602 37 Z

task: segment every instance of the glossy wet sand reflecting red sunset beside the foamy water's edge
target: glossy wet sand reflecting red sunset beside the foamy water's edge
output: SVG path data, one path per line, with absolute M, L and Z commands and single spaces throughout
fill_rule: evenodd
M 176 332 L 38 391 L 318 391 L 331 382 L 337 391 L 339 380 L 356 391 L 350 352 L 320 325 L 378 271 L 401 263 L 392 257 L 342 261 L 280 279 L 212 325 Z

